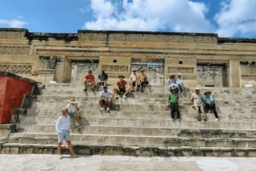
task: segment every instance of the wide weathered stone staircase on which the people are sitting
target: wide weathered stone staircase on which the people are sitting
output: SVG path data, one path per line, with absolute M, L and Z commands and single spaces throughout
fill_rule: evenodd
M 174 122 L 166 110 L 166 87 L 148 86 L 143 94 L 132 92 L 127 99 L 114 100 L 113 110 L 100 111 L 99 92 L 83 91 L 79 80 L 84 76 L 82 71 L 76 70 L 72 83 L 53 83 L 42 89 L 1 145 L 1 153 L 55 154 L 56 118 L 61 107 L 75 97 L 82 105 L 80 127 L 73 124 L 71 128 L 77 154 L 256 157 L 253 88 L 211 88 L 218 100 L 218 122 L 213 114 L 207 114 L 207 122 L 196 120 L 189 105 L 194 88 L 187 88 L 180 97 L 181 121 Z M 67 148 L 63 151 L 68 152 Z

